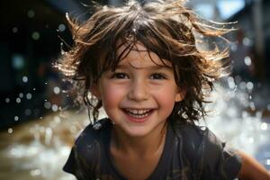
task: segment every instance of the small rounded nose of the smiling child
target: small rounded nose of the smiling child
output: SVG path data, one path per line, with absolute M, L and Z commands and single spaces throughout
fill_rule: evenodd
M 148 85 L 144 81 L 134 80 L 130 85 L 128 98 L 133 101 L 144 101 L 148 99 Z

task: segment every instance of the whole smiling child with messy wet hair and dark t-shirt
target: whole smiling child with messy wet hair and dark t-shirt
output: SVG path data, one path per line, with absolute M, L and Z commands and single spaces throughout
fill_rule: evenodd
M 75 46 L 58 68 L 84 90 L 94 123 L 76 139 L 66 172 L 80 180 L 270 179 L 195 125 L 228 56 L 200 50 L 198 38 L 229 30 L 202 23 L 180 0 L 98 7 L 84 24 L 69 23 Z M 97 120 L 101 107 L 108 118 Z

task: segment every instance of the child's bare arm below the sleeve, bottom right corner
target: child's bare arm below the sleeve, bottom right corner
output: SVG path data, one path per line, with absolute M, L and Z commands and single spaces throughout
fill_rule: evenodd
M 270 173 L 256 159 L 242 151 L 237 152 L 242 157 L 242 166 L 238 174 L 239 180 L 270 180 Z

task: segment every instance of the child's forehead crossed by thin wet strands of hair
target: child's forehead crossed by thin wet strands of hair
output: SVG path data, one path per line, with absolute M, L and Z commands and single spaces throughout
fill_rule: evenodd
M 149 51 L 141 42 L 136 42 L 131 48 L 127 44 L 117 49 L 117 55 L 121 53 L 122 58 L 118 65 L 130 64 L 131 67 L 172 67 L 171 62 L 159 58 L 156 53 Z

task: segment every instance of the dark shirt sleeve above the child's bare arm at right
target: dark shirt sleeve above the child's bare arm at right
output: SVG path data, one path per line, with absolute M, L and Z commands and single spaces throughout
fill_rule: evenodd
M 234 148 L 226 146 L 211 130 L 203 131 L 199 150 L 202 152 L 202 179 L 230 180 L 237 177 L 241 158 Z

